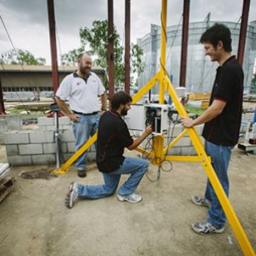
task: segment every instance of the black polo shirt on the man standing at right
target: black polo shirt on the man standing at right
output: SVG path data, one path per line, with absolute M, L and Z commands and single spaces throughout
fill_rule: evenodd
M 214 87 L 210 97 L 225 102 L 222 113 L 205 123 L 203 137 L 217 145 L 234 146 L 237 144 L 242 120 L 243 72 L 235 56 L 228 58 L 217 69 Z

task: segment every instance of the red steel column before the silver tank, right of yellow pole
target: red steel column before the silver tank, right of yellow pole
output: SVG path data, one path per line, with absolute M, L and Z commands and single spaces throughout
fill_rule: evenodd
M 189 6 L 190 6 L 190 0 L 184 0 L 182 42 L 181 42 L 181 71 L 180 71 L 180 86 L 183 86 L 183 87 L 186 86 L 186 56 L 187 56 Z

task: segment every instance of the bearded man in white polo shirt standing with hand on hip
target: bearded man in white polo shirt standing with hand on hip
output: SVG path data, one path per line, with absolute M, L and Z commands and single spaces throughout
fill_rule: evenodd
M 56 92 L 56 102 L 59 109 L 73 121 L 75 135 L 75 151 L 88 141 L 97 131 L 101 97 L 102 110 L 107 108 L 107 97 L 102 81 L 92 73 L 92 57 L 87 53 L 79 54 L 77 58 L 78 70 L 67 75 Z M 68 109 L 65 100 L 70 101 Z M 86 153 L 75 162 L 80 177 L 86 176 Z

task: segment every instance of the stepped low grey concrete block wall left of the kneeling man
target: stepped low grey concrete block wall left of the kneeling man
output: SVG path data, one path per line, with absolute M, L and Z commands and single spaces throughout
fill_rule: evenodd
M 8 163 L 25 164 L 55 164 L 56 142 L 54 138 L 54 119 L 42 117 L 38 119 L 38 130 L 8 131 L 4 133 L 4 143 Z M 59 118 L 61 131 L 61 149 L 64 160 L 70 159 L 75 153 L 75 137 L 69 118 Z M 88 148 L 89 161 L 96 159 L 95 147 Z

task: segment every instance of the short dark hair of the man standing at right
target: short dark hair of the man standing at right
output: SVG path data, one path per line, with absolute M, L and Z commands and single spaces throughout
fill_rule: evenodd
M 203 33 L 199 42 L 209 42 L 216 48 L 219 41 L 223 42 L 225 52 L 230 53 L 232 51 L 230 29 L 223 24 L 215 23 Z

